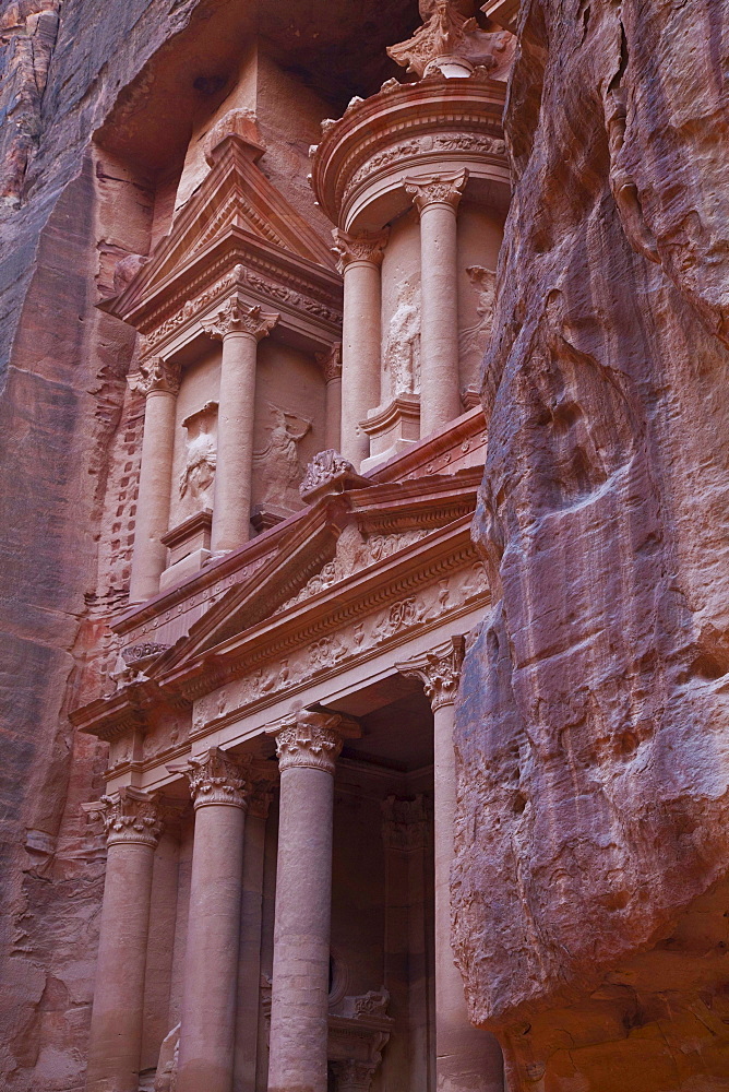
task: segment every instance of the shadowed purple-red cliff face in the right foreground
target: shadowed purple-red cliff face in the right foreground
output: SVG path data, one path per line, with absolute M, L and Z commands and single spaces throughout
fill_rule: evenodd
M 523 0 L 454 938 L 514 1090 L 729 1080 L 729 3 Z

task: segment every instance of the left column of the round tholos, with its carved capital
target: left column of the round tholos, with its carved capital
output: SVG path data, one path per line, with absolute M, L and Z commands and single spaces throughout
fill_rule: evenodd
M 335 230 L 334 251 L 344 274 L 342 328 L 342 442 L 333 443 L 357 470 L 370 453 L 359 427 L 368 411 L 380 403 L 382 285 L 380 266 L 386 233 L 351 236 Z

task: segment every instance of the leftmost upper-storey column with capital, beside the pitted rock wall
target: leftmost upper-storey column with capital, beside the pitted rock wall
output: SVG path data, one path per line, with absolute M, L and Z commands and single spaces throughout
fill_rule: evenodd
M 140 490 L 136 499 L 134 550 L 129 598 L 142 603 L 159 591 L 169 530 L 169 502 L 175 452 L 175 404 L 180 389 L 179 366 L 152 357 L 140 364 L 135 390 L 145 395 Z

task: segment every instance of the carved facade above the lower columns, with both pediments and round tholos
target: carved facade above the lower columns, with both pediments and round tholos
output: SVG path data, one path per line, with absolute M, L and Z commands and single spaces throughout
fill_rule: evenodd
M 166 784 L 195 739 L 238 746 L 272 701 L 321 700 L 333 672 L 361 681 L 362 663 L 465 632 L 486 602 L 468 522 L 514 39 L 470 0 L 421 16 L 390 49 L 403 79 L 338 120 L 252 41 L 158 185 L 150 258 L 123 262 L 103 305 L 138 331 L 128 410 L 143 414 L 135 497 L 122 478 L 132 609 L 105 696 L 74 716 L 118 741 L 113 784 Z M 206 695 L 241 640 L 225 677 L 248 681 L 220 736 Z M 170 701 L 184 725 L 153 745 Z

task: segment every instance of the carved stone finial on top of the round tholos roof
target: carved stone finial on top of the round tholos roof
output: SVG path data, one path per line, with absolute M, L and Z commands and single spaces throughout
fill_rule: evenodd
M 418 79 L 438 71 L 467 74 L 476 66 L 495 74 L 513 57 L 514 35 L 482 31 L 470 11 L 468 0 L 421 0 L 420 16 L 427 22 L 407 41 L 391 46 L 389 56 Z

